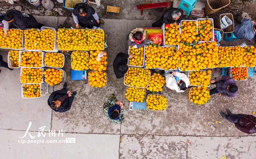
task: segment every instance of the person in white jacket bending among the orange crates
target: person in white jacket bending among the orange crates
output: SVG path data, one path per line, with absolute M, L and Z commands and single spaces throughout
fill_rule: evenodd
M 166 86 L 176 92 L 186 91 L 190 81 L 184 73 L 170 72 L 165 75 Z

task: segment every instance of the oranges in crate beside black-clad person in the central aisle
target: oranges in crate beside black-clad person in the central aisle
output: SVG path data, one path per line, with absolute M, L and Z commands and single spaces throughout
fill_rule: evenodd
M 134 49 L 132 46 L 129 47 L 129 54 L 133 54 L 132 59 L 129 59 L 128 65 L 142 66 L 144 60 L 144 46 Z

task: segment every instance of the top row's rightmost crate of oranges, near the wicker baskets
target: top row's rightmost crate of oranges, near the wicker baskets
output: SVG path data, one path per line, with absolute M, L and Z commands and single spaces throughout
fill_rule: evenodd
M 200 37 L 199 41 L 214 41 L 214 28 L 212 18 L 198 18 L 198 35 Z

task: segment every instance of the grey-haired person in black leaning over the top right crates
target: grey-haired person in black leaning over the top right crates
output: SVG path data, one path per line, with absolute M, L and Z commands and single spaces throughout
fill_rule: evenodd
M 163 12 L 160 20 L 152 24 L 152 27 L 161 27 L 163 23 L 177 26 L 182 20 L 183 11 L 178 8 L 169 8 Z

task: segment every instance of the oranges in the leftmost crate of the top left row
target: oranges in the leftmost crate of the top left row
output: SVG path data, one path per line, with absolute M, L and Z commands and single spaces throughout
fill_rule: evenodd
M 8 35 L 4 35 L 3 28 L 0 28 L 0 47 L 8 49 L 21 49 L 22 48 L 22 30 L 9 29 Z

